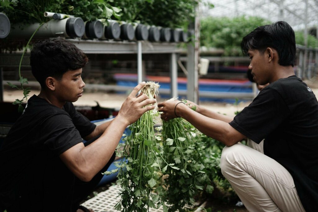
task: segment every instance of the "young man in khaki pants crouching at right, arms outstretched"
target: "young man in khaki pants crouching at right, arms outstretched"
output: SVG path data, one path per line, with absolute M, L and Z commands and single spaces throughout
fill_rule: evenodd
M 233 117 L 179 101 L 159 103 L 162 119 L 180 116 L 227 147 L 224 176 L 249 211 L 314 212 L 318 202 L 318 102 L 294 75 L 295 35 L 286 22 L 257 27 L 242 40 L 253 79 L 265 85 L 252 103 Z M 191 105 L 194 103 L 191 103 Z M 190 106 L 191 106 L 190 105 Z M 238 144 L 244 138 L 262 150 Z M 255 147 L 256 148 L 256 147 Z

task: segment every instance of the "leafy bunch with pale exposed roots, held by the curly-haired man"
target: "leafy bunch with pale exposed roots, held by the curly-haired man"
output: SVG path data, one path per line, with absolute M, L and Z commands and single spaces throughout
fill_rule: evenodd
M 142 88 L 142 93 L 152 99 L 158 88 L 159 84 L 148 82 Z M 155 135 L 154 131 L 155 116 L 158 115 L 156 110 L 148 111 L 129 127 L 131 134 L 124 138 L 125 143 L 119 144 L 117 148 L 116 155 L 122 157 L 122 160 L 115 164 L 118 168 L 104 173 L 119 171 L 117 185 L 121 188 L 121 201 L 115 206 L 116 210 L 147 211 L 149 207 L 156 208 L 156 202 L 162 195 L 152 192 L 161 181 L 162 172 L 167 166 L 177 169 L 173 163 L 166 164 L 163 169 L 160 167 L 164 161 L 159 150 L 161 136 Z M 164 202 L 162 206 L 167 208 Z

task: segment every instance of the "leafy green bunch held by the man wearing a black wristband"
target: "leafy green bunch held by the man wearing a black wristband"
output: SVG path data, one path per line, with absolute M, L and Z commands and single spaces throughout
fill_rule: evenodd
M 183 118 L 162 123 L 164 158 L 179 168 L 167 167 L 167 178 L 162 184 L 171 212 L 186 211 L 185 204 L 193 206 L 195 198 L 203 190 L 208 193 L 213 191 L 207 174 L 209 167 L 204 160 L 205 144 L 200 135 L 201 133 Z

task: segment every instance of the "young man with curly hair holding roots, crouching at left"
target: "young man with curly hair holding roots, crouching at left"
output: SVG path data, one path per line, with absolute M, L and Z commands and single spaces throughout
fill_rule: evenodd
M 126 127 L 154 108 L 155 99 L 136 97 L 143 82 L 114 120 L 99 126 L 91 123 L 72 104 L 82 96 L 81 73 L 87 61 L 81 50 L 62 38 L 34 44 L 30 62 L 41 91 L 28 100 L 1 146 L 0 211 L 83 211 L 79 202 L 114 160 Z M 82 138 L 100 134 L 84 146 Z

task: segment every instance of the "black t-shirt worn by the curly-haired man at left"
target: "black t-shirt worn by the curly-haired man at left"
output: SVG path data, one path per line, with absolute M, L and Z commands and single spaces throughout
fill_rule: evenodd
M 32 96 L 0 149 L 0 206 L 70 211 L 75 175 L 59 155 L 95 127 L 70 102 L 60 109 Z

